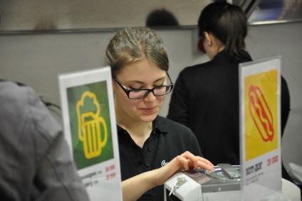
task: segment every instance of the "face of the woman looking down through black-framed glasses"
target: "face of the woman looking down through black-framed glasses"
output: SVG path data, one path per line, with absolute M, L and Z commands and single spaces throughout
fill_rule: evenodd
M 167 84 L 166 71 L 161 70 L 155 63 L 147 59 L 125 66 L 116 78 L 128 90 L 133 88 L 151 89 Z M 154 96 L 153 93 L 149 93 L 145 98 L 130 99 L 116 81 L 113 81 L 113 91 L 115 93 L 115 113 L 118 124 L 129 121 L 135 123 L 152 122 L 167 97 L 167 95 Z

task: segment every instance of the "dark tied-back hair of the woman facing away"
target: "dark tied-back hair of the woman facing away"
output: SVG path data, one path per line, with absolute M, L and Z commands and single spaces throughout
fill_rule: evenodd
M 247 35 L 247 19 L 239 6 L 227 2 L 209 4 L 199 16 L 198 27 L 201 38 L 204 38 L 204 31 L 212 33 L 224 43 L 224 53 L 236 61 L 242 61 L 246 55 L 244 39 Z

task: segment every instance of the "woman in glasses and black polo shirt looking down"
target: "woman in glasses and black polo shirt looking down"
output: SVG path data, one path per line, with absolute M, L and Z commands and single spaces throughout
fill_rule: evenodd
M 212 170 L 189 128 L 158 115 L 173 83 L 162 38 L 127 27 L 105 51 L 111 67 L 124 200 L 164 200 L 162 184 L 185 168 Z

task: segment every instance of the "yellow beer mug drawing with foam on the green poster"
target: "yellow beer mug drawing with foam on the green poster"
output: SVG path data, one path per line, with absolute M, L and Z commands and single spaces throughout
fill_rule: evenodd
M 94 112 L 91 109 L 81 112 L 81 108 L 87 103 L 90 103 L 88 107 L 93 108 Z M 78 115 L 78 138 L 83 143 L 85 158 L 95 158 L 102 153 L 102 148 L 106 145 L 108 139 L 107 125 L 104 118 L 100 116 L 100 105 L 95 93 L 85 91 L 76 105 L 76 110 Z

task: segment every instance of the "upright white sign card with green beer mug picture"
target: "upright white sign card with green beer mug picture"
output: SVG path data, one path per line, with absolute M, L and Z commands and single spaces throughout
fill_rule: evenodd
M 123 200 L 110 67 L 58 81 L 66 140 L 90 200 Z

